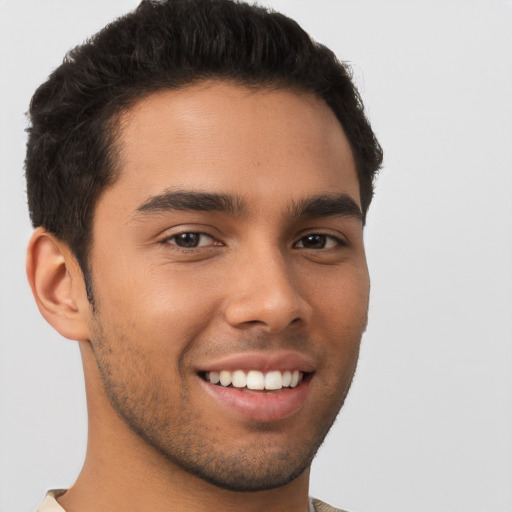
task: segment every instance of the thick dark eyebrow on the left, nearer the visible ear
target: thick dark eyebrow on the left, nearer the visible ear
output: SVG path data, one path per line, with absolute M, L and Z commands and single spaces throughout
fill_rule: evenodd
M 241 215 L 244 213 L 245 207 L 239 198 L 226 194 L 169 190 L 144 201 L 137 208 L 136 213 L 153 214 L 170 210 Z

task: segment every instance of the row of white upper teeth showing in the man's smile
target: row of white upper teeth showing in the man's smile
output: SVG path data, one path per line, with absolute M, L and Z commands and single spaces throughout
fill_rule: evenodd
M 293 372 L 273 370 L 264 374 L 258 370 L 250 370 L 245 373 L 243 370 L 229 372 L 206 372 L 205 379 L 212 384 L 221 384 L 227 387 L 233 385 L 235 388 L 248 388 L 254 390 L 275 391 L 282 388 L 295 388 L 302 382 L 303 374 L 299 370 Z

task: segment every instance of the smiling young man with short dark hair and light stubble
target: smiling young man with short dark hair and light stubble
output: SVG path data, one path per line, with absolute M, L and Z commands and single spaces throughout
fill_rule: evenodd
M 333 510 L 309 470 L 366 326 L 382 161 L 344 66 L 261 8 L 143 2 L 30 117 L 28 278 L 89 411 L 40 510 Z

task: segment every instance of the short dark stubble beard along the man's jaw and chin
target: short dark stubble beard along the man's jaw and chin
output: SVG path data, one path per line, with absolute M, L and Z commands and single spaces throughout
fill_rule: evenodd
M 101 328 L 96 334 L 91 345 L 103 387 L 123 422 L 174 467 L 230 491 L 274 489 L 302 474 L 327 436 L 350 387 L 342 392 L 340 387 L 331 387 L 322 399 L 321 414 L 308 419 L 307 432 L 300 440 L 288 442 L 284 437 L 286 444 L 276 443 L 272 425 L 256 425 L 250 439 L 232 438 L 228 446 L 216 437 L 215 425 L 206 425 L 200 412 L 193 409 L 186 388 L 181 390 L 180 410 L 171 405 L 146 354 L 129 347 L 122 336 L 107 339 Z M 353 372 L 350 381 L 352 376 Z

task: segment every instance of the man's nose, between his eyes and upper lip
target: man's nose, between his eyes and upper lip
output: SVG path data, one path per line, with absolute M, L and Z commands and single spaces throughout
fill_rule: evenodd
M 253 252 L 233 265 L 225 318 L 233 327 L 260 327 L 269 333 L 307 322 L 312 308 L 299 285 L 299 276 L 280 251 Z

